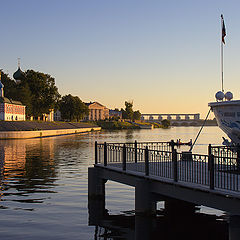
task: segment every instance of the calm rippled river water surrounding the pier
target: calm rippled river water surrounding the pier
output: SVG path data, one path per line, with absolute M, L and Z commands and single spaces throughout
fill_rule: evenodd
M 94 142 L 171 139 L 187 142 L 195 139 L 199 129 L 101 131 L 42 139 L 1 140 L 0 239 L 134 239 L 123 234 L 127 231 L 132 236 L 134 232 L 131 218 L 134 189 L 125 185 L 106 184 L 106 208 L 110 215 L 119 217 L 120 222 L 125 221 L 129 226 L 125 224 L 125 230 L 117 232 L 116 229 L 123 227 L 116 221 L 112 228 L 89 226 L 87 173 L 94 163 Z M 218 127 L 205 127 L 194 152 L 206 153 L 209 143 L 221 144 L 222 136 L 226 137 Z M 160 209 L 161 205 L 158 207 Z M 224 215 L 204 207 L 200 212 Z

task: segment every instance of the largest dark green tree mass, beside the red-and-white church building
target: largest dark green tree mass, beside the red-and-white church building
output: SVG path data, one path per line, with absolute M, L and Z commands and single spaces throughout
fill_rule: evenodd
M 60 98 L 55 79 L 49 74 L 27 70 L 21 82 L 16 83 L 7 74 L 2 72 L 4 96 L 21 101 L 26 106 L 26 115 L 41 117 L 49 113 Z

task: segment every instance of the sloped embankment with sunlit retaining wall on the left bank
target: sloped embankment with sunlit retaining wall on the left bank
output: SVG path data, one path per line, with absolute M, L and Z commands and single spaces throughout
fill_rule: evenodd
M 0 139 L 51 137 L 99 130 L 101 127 L 90 123 L 0 121 Z

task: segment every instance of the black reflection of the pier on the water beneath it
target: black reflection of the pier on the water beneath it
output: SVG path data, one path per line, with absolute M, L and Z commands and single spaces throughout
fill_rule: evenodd
M 96 211 L 94 213 L 98 214 Z M 95 226 L 94 239 L 125 240 L 176 240 L 176 239 L 228 239 L 228 223 L 224 217 L 195 212 L 192 215 L 168 215 L 164 209 L 156 217 L 135 216 L 134 211 L 110 215 L 105 211 L 102 218 L 90 222 Z

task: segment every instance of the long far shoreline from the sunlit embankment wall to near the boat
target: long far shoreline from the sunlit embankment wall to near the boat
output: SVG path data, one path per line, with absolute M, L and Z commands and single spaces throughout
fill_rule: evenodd
M 217 126 L 214 121 L 207 121 L 205 126 Z M 199 127 L 198 124 L 187 125 L 187 127 Z M 44 138 L 62 135 L 71 135 L 79 133 L 88 133 L 100 130 L 124 130 L 124 129 L 153 129 L 171 127 L 186 127 L 186 125 L 172 124 L 164 127 L 157 123 L 138 123 L 138 122 L 118 122 L 118 121 L 98 121 L 92 123 L 86 122 L 43 122 L 43 121 L 0 121 L 0 139 L 29 139 Z

